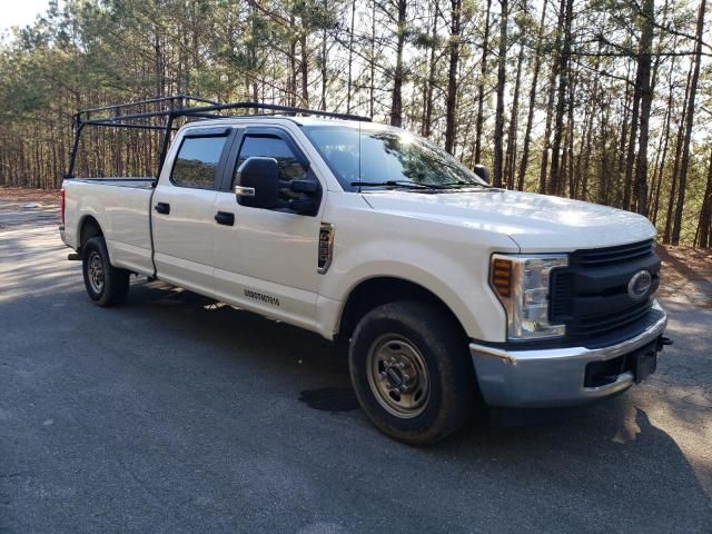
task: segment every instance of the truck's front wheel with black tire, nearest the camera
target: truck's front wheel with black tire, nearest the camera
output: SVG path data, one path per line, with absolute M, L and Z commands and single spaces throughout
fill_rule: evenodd
M 348 362 L 362 408 L 395 439 L 436 443 L 472 416 L 477 383 L 467 340 L 437 306 L 396 301 L 373 309 L 356 326 Z

